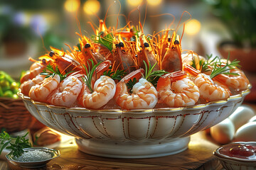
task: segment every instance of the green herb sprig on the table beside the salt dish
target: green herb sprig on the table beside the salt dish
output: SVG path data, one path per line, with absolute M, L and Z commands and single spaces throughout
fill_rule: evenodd
M 28 132 L 26 133 L 28 135 Z M 14 157 L 21 157 L 23 154 L 23 149 L 27 147 L 31 147 L 31 143 L 26 139 L 26 135 L 23 135 L 22 137 L 11 137 L 7 132 L 1 132 L 0 134 L 0 154 L 6 149 L 11 149 L 11 152 L 9 155 L 14 155 Z M 13 142 L 15 140 L 15 142 Z M 9 145 L 9 146 L 8 146 Z

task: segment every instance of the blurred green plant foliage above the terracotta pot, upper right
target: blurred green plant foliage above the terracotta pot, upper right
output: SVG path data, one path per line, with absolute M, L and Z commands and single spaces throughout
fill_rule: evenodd
M 238 47 L 256 47 L 255 0 L 203 0 L 228 28 Z

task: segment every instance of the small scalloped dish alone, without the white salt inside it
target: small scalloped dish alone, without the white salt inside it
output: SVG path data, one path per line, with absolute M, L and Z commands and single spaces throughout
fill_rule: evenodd
M 56 149 L 49 149 L 47 147 L 30 147 L 23 149 L 24 152 L 29 152 L 33 150 L 43 151 L 47 152 L 51 155 L 50 159 L 42 160 L 42 161 L 36 161 L 36 162 L 19 162 L 14 159 L 13 155 L 6 154 L 6 159 L 11 162 L 11 164 L 21 166 L 22 168 L 39 168 L 46 166 L 48 162 L 50 162 L 52 159 L 55 159 L 56 157 L 60 157 L 60 151 Z

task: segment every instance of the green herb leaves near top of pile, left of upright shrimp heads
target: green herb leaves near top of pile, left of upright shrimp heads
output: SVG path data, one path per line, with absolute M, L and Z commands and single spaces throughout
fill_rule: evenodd
M 99 35 L 92 35 L 92 40 L 98 44 L 101 44 L 105 47 L 107 47 L 108 50 L 110 50 L 110 52 L 112 52 L 113 49 L 113 35 L 108 33 L 107 35 L 105 35 L 105 37 L 101 37 L 101 35 L 103 34 L 100 33 Z

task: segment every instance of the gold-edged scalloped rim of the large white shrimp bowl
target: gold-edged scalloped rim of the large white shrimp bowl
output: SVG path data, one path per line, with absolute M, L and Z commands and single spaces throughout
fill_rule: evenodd
M 19 92 L 18 92 L 18 96 L 20 96 L 23 100 L 28 100 L 28 101 L 31 101 L 33 104 L 36 104 L 36 105 L 43 105 L 43 106 L 46 106 L 48 108 L 59 108 L 59 109 L 65 109 L 65 110 L 69 110 L 69 111 L 87 111 L 88 113 L 90 113 L 91 111 L 94 112 L 94 113 L 112 113 L 112 114 L 115 114 L 115 113 L 136 113 L 136 114 L 143 114 L 143 113 L 148 113 L 148 112 L 154 112 L 154 111 L 182 111 L 182 110 L 186 110 L 186 109 L 198 109 L 198 108 L 206 108 L 207 106 L 209 105 L 212 105 L 212 104 L 224 104 L 224 103 L 227 103 L 228 101 L 230 100 L 234 100 L 236 98 L 242 98 L 243 96 L 247 95 L 250 93 L 250 89 L 252 88 L 252 85 L 249 84 L 247 86 L 247 89 L 244 90 L 244 91 L 241 91 L 240 94 L 235 94 L 234 96 L 230 96 L 229 98 L 226 98 L 224 100 L 219 100 L 219 101 L 210 101 L 208 103 L 203 103 L 203 104 L 198 104 L 198 105 L 194 105 L 194 106 L 186 106 L 186 107 L 178 107 L 178 108 L 151 108 L 151 109 L 134 109 L 134 110 L 122 110 L 122 109 L 119 109 L 119 108 L 113 108 L 113 109 L 89 109 L 89 108 L 81 108 L 81 107 L 71 107 L 71 108 L 68 108 L 68 107 L 64 107 L 64 106 L 55 106 L 55 105 L 51 105 L 51 104 L 48 104 L 48 103 L 43 103 L 43 102 L 39 102 L 39 101 L 33 101 L 33 99 L 31 99 L 30 97 L 28 96 L 25 96 L 24 94 L 21 93 L 21 89 L 19 89 Z

